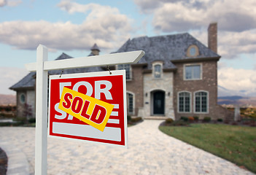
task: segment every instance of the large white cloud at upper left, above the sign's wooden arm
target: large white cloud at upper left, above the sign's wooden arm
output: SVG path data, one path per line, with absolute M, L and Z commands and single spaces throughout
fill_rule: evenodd
M 88 15 L 81 24 L 44 20 L 0 23 L 0 42 L 25 50 L 34 50 L 38 44 L 52 50 L 85 50 L 94 43 L 101 50 L 113 50 L 129 38 L 128 33 L 132 30 L 131 20 L 116 8 L 69 1 L 61 1 L 58 7 L 70 13 L 85 12 Z

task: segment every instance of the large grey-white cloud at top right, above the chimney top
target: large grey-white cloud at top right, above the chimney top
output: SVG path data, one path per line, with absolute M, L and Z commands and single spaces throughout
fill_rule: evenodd
M 200 29 L 212 21 L 223 31 L 247 31 L 256 27 L 256 1 L 244 0 L 134 0 L 142 13 L 153 13 L 152 25 L 163 32 Z

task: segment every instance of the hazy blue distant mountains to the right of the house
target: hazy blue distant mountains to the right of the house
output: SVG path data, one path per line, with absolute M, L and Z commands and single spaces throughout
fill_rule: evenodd
M 220 96 L 218 97 L 218 104 L 256 106 L 256 97 Z

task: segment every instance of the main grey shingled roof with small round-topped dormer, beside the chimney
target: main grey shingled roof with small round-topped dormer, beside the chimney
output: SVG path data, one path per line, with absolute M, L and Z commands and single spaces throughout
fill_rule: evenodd
M 187 57 L 187 48 L 195 44 L 198 47 L 197 57 Z M 117 52 L 144 50 L 145 55 L 139 63 L 147 63 L 147 69 L 152 69 L 153 61 L 163 61 L 163 69 L 174 69 L 171 61 L 182 61 L 198 58 L 220 58 L 220 55 L 210 50 L 190 34 L 174 34 L 167 36 L 141 36 L 128 39 Z

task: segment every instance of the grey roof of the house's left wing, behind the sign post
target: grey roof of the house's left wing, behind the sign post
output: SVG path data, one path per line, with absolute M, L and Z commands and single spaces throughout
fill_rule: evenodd
M 90 53 L 88 56 L 92 56 L 93 53 Z M 58 58 L 55 60 L 63 60 L 63 59 L 69 59 L 72 58 L 69 55 L 66 55 L 66 53 L 62 53 Z M 101 67 L 88 67 L 88 68 L 79 68 L 79 69 L 64 69 L 61 73 L 61 70 L 54 70 L 54 71 L 48 71 L 48 74 L 75 74 L 75 73 L 83 73 L 83 72 L 92 72 L 92 71 L 104 71 Z M 23 79 L 20 79 L 19 82 L 17 82 L 15 85 L 12 85 L 9 89 L 11 90 L 22 90 L 22 89 L 34 89 L 35 85 L 35 77 L 36 72 L 31 72 L 27 74 Z

